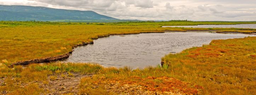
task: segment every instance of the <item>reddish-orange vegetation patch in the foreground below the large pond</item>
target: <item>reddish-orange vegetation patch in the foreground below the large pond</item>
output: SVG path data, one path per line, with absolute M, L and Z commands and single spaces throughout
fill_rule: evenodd
M 202 86 L 195 85 L 191 86 L 190 83 L 183 82 L 171 77 L 153 77 L 148 76 L 146 78 L 141 78 L 138 76 L 131 76 L 126 79 L 121 79 L 120 77 L 115 77 L 107 79 L 102 77 L 101 79 L 94 82 L 95 84 L 118 84 L 117 88 L 124 86 L 140 86 L 141 90 L 150 91 L 158 94 L 164 94 L 166 92 L 171 93 L 182 93 L 182 94 L 198 94 Z M 118 90 L 118 89 L 116 89 Z

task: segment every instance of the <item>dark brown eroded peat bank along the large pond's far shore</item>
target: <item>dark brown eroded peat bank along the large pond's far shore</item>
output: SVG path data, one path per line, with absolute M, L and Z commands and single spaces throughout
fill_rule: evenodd
M 98 35 L 96 38 L 92 38 L 92 40 L 98 39 L 98 38 L 103 38 L 103 37 L 109 37 L 110 35 L 129 35 L 129 34 L 142 34 L 142 33 L 167 33 L 167 32 L 211 32 L 211 33 L 218 33 L 216 32 L 217 30 L 187 30 L 187 31 L 149 31 L 149 32 L 140 32 L 140 33 L 124 33 L 124 34 L 107 34 L 107 35 Z M 227 32 L 230 33 L 230 32 Z M 248 34 L 248 33 L 241 33 L 241 34 Z M 249 33 L 253 34 L 253 33 Z M 31 63 L 47 63 L 51 61 L 57 61 L 57 60 L 62 60 L 66 59 L 69 57 L 70 54 L 74 51 L 74 48 L 80 47 L 80 46 L 86 46 L 89 44 L 93 44 L 93 41 L 91 42 L 82 42 L 78 45 L 75 45 L 72 47 L 72 50 L 68 53 L 65 53 L 63 55 L 58 55 L 58 56 L 53 56 L 53 57 L 47 57 L 47 58 L 42 58 L 42 59 L 33 59 L 33 60 L 27 60 L 27 61 L 19 61 L 12 63 L 9 67 L 13 67 L 14 65 L 29 65 Z

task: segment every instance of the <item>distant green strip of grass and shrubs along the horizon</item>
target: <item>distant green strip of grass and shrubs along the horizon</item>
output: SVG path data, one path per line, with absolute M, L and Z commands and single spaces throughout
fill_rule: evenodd
M 109 20 L 108 20 L 109 21 Z M 256 24 L 256 21 L 125 21 L 113 20 L 111 22 L 75 22 L 75 21 L 0 21 L 0 26 L 34 26 L 34 25 L 113 25 L 113 26 L 191 26 L 191 25 L 234 25 L 234 24 Z

